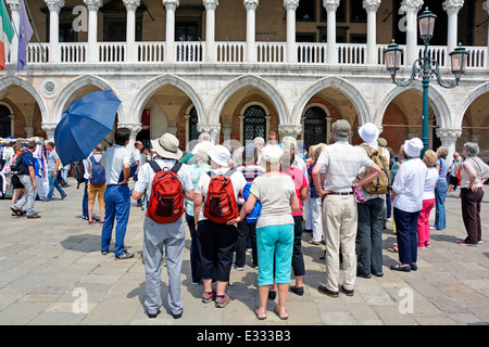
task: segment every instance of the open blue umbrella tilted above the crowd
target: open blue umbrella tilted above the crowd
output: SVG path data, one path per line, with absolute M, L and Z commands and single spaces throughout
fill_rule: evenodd
M 111 132 L 120 105 L 111 90 L 89 93 L 70 105 L 54 130 L 57 153 L 64 165 L 88 157 Z

